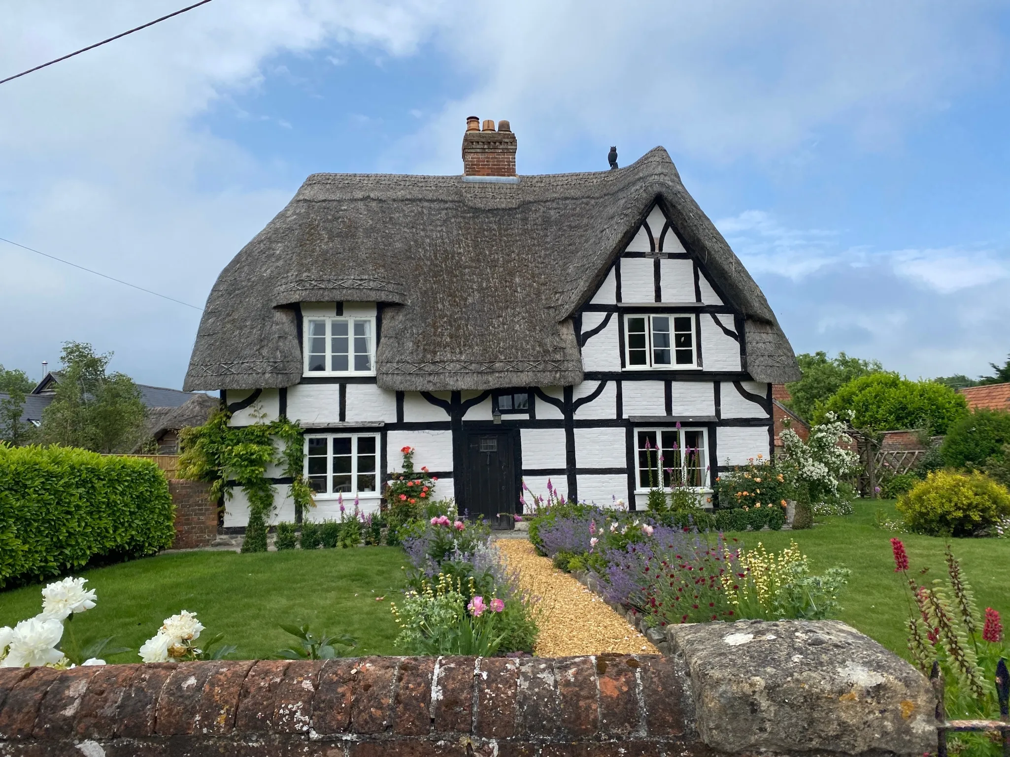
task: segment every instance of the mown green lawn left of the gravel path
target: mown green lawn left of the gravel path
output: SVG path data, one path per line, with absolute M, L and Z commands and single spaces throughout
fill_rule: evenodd
M 181 610 L 197 613 L 205 635 L 223 632 L 238 647 L 232 657 L 272 657 L 289 646 L 295 640 L 281 623 L 348 633 L 358 653 L 394 654 L 389 604 L 404 585 L 405 564 L 399 547 L 164 554 L 76 573 L 97 590 L 98 605 L 70 630 L 82 639 L 114 634 L 134 650 L 110 662 L 138 662 L 135 650 Z M 0 626 L 40 612 L 41 585 L 0 592 Z

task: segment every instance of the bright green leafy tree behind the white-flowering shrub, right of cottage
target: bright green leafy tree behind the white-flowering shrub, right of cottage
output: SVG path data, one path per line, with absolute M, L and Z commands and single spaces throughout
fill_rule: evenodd
M 880 372 L 854 379 L 827 402 L 818 405 L 814 420 L 827 412 L 845 417 L 853 413 L 852 426 L 870 431 L 925 429 L 945 434 L 947 427 L 968 413 L 963 395 L 933 381 L 911 382 L 897 373 Z

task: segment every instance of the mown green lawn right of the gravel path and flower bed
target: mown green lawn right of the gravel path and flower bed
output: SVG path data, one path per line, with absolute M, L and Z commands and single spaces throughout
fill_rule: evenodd
M 929 568 L 920 576 L 920 582 L 946 575 L 945 542 L 877 528 L 874 525 L 876 511 L 884 511 L 887 520 L 897 520 L 894 506 L 894 501 L 858 500 L 854 515 L 824 519 L 823 524 L 809 531 L 763 531 L 729 536 L 739 538 L 745 546 L 756 546 L 760 541 L 768 549 L 775 550 L 789 546 L 793 539 L 810 558 L 815 572 L 832 565 L 849 568 L 852 574 L 840 597 L 844 610 L 839 619 L 904 656 L 908 594 L 901 574 L 894 572 L 890 540 L 897 536 L 905 543 L 911 573 Z M 1010 619 L 1010 539 L 949 541 L 975 590 L 980 612 L 992 607 Z

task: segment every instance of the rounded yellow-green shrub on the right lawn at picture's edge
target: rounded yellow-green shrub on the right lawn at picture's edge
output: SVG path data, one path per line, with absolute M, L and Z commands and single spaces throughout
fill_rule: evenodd
M 1010 517 L 1010 492 L 981 473 L 930 473 L 898 500 L 912 531 L 930 536 L 985 534 Z

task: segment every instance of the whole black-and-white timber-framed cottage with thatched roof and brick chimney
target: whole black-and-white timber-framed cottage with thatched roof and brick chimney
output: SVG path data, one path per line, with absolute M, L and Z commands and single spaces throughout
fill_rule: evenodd
M 234 424 L 301 422 L 313 518 L 378 507 L 405 445 L 485 515 L 522 480 L 635 508 L 772 453 L 796 358 L 667 151 L 549 176 L 515 151 L 472 118 L 463 176 L 310 176 L 214 285 L 185 388 L 221 390 Z

